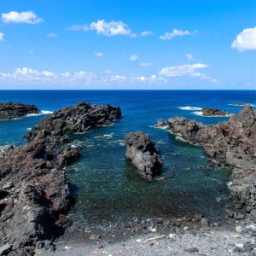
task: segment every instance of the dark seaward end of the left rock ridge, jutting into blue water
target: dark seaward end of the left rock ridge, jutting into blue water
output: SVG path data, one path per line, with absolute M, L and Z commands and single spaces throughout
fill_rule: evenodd
M 96 106 L 79 102 L 74 107 L 61 108 L 39 122 L 28 132 L 28 139 L 46 139 L 50 143 L 67 143 L 68 133 L 88 131 L 94 127 L 110 125 L 121 118 L 119 107 L 110 105 Z

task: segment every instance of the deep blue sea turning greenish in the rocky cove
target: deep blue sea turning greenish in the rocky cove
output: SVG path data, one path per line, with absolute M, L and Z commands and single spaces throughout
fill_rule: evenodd
M 182 107 L 216 107 L 238 113 L 256 105 L 256 90 L 0 90 L 0 102 L 35 104 L 44 111 L 85 101 L 119 106 L 123 117 L 108 127 L 73 136 L 84 146 L 82 158 L 68 172 L 77 203 L 70 215 L 82 224 L 109 224 L 139 217 L 169 217 L 202 212 L 218 218 L 229 195 L 228 170 L 209 165 L 201 148 L 180 142 L 164 129 L 154 128 L 157 119 L 183 116 L 205 124 L 228 117 L 207 118 L 200 110 Z M 197 112 L 197 113 L 195 113 Z M 0 145 L 26 143 L 21 137 L 45 115 L 0 121 Z M 137 176 L 125 159 L 125 134 L 145 131 L 156 143 L 165 166 L 153 183 Z

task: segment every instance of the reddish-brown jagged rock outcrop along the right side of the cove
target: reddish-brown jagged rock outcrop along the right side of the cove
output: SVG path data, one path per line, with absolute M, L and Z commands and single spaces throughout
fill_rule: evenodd
M 256 208 L 256 110 L 242 108 L 230 120 L 203 125 L 185 118 L 168 119 L 167 129 L 200 144 L 212 160 L 233 167 L 231 194 L 236 207 Z M 247 208 L 248 209 L 248 208 Z

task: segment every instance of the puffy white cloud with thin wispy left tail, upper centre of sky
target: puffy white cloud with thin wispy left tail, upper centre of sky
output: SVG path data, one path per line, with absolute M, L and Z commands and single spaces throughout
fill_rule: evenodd
M 128 36 L 135 38 L 136 34 L 131 32 L 131 29 L 123 21 L 111 20 L 107 22 L 106 20 L 97 20 L 96 22 L 91 22 L 89 26 L 85 25 L 73 25 L 69 27 L 70 30 L 82 30 L 82 31 L 95 31 L 97 34 L 103 36 Z

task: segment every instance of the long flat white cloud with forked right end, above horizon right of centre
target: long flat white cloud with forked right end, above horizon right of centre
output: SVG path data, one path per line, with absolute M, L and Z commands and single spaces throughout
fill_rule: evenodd
M 207 64 L 195 63 L 187 65 L 179 65 L 172 67 L 164 67 L 160 70 L 159 74 L 167 77 L 181 77 L 181 76 L 190 76 L 201 79 L 206 79 L 207 76 L 197 72 L 197 69 L 206 68 Z

